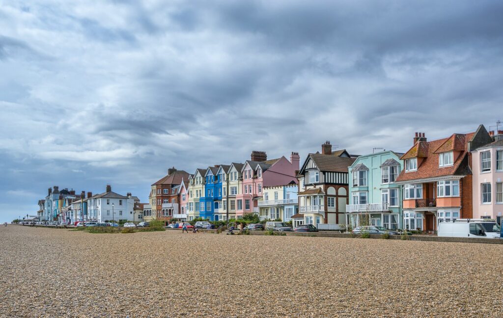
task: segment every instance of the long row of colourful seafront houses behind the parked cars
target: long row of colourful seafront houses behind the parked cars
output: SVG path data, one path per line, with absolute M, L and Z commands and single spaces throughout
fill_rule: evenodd
M 227 220 L 255 213 L 293 226 L 356 226 L 365 217 L 389 229 L 433 232 L 439 222 L 456 218 L 501 223 L 502 179 L 503 131 L 488 132 L 480 125 L 475 132 L 437 140 L 416 132 L 405 152 L 355 155 L 326 141 L 301 162 L 297 152 L 268 159 L 266 152 L 252 151 L 241 163 L 191 172 L 168 169 L 151 185 L 148 203 L 130 194 L 123 199 L 131 201 L 127 216 L 134 213 L 145 221 Z M 83 193 L 80 200 L 86 200 Z M 88 215 L 98 217 L 98 212 Z

